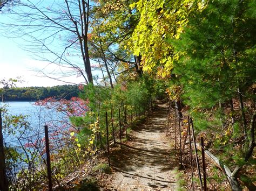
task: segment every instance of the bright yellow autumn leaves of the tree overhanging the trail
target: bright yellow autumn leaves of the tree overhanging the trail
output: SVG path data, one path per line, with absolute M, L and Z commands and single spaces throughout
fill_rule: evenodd
M 199 2 L 199 4 L 197 4 Z M 199 6 L 200 5 L 200 6 Z M 136 56 L 142 56 L 143 70 L 157 70 L 160 77 L 168 77 L 173 62 L 179 59 L 167 39 L 179 39 L 191 12 L 203 9 L 200 1 L 143 1 L 130 5 L 140 13 L 129 47 Z

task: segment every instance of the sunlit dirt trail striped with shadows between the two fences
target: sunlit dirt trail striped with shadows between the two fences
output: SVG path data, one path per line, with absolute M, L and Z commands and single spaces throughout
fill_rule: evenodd
M 122 150 L 114 151 L 111 189 L 117 190 L 175 190 L 173 169 L 176 162 L 165 140 L 164 104 L 150 114 L 146 122 L 133 132 L 133 140 Z M 115 162 L 116 161 L 116 162 Z

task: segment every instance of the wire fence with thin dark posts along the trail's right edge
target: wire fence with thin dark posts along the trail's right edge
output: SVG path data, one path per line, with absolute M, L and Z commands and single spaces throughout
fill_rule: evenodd
M 205 149 L 204 138 L 200 137 L 200 143 L 197 143 L 192 118 L 183 117 L 181 121 L 180 112 L 177 107 L 172 107 L 170 101 L 166 117 L 166 135 L 174 134 L 174 150 L 179 153 L 181 168 L 186 174 L 191 174 L 191 189 L 207 190 L 209 186 L 215 189 L 215 182 L 208 176 L 210 168 L 207 168 L 207 165 L 210 161 L 207 161 L 205 157 L 208 151 Z M 170 126 L 171 122 L 175 125 Z M 214 161 L 211 155 L 207 154 L 207 157 Z

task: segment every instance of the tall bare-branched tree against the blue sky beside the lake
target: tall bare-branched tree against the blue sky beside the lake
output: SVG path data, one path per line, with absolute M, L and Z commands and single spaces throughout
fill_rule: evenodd
M 64 81 L 63 75 L 79 74 L 86 83 L 93 83 L 88 47 L 90 11 L 89 0 L 55 1 L 50 5 L 43 1 L 15 2 L 14 8 L 6 13 L 15 22 L 1 24 L 9 34 L 28 41 L 25 49 L 55 64 L 59 70 L 52 72 L 58 77 L 43 70 L 41 73 L 60 81 Z M 82 58 L 83 65 L 75 56 Z M 69 71 L 64 73 L 65 68 Z

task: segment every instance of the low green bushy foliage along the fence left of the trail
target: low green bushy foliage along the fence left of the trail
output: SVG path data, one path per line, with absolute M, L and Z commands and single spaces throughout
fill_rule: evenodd
M 113 131 L 116 133 L 119 131 L 119 110 L 121 128 L 124 130 L 125 125 L 132 126 L 131 118 L 133 118 L 134 123 L 137 123 L 139 119 L 144 119 L 142 115 L 146 110 L 149 110 L 150 101 L 154 95 L 154 81 L 149 76 L 138 81 L 130 80 L 126 83 L 117 84 L 113 89 L 92 86 L 92 84 L 85 86 L 84 93 L 80 96 L 88 101 L 90 111 L 86 112 L 83 117 L 70 118 L 72 124 L 80 129 L 80 132 L 75 135 L 78 140 L 76 144 L 81 146 L 81 151 L 86 150 L 86 153 L 89 154 L 96 153 L 99 148 L 106 144 L 106 112 L 109 137 L 112 140 Z

